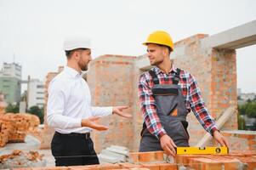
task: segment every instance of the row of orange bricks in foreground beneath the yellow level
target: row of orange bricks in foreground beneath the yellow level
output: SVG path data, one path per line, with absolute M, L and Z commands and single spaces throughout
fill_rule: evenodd
M 181 167 L 200 170 L 247 169 L 256 168 L 256 151 L 237 151 L 229 155 L 179 155 L 171 162 L 162 151 L 131 153 L 131 163 L 74 166 L 74 167 L 35 167 L 17 168 L 16 170 L 97 170 L 97 169 L 130 169 L 130 170 L 178 170 Z

